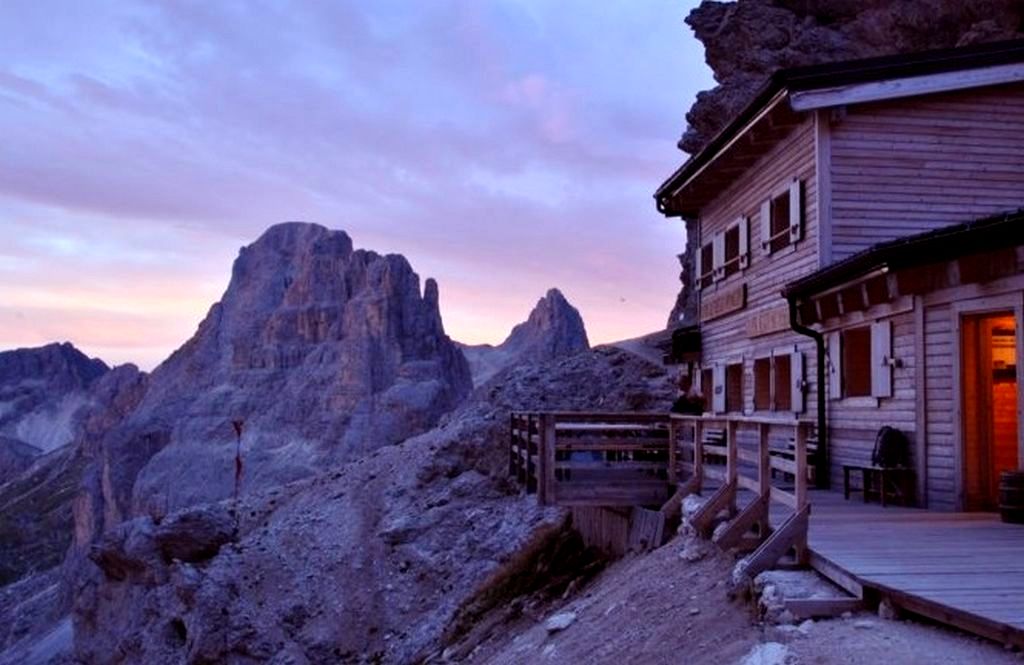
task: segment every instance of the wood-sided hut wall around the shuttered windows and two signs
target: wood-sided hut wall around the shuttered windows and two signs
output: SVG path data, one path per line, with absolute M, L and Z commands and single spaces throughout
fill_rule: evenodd
M 761 246 L 761 204 L 773 195 L 785 191 L 798 177 L 803 181 L 803 240 L 782 251 L 768 254 Z M 746 285 L 744 309 L 701 324 L 701 345 L 705 367 L 716 363 L 743 363 L 743 412 L 754 412 L 754 359 L 782 347 L 796 346 L 804 354 L 804 377 L 810 385 L 805 404 L 813 410 L 815 390 L 814 343 L 786 328 L 759 337 L 749 337 L 748 320 L 786 305 L 780 293 L 782 287 L 818 268 L 817 183 L 815 178 L 815 126 L 813 117 L 793 130 L 770 153 L 762 157 L 745 173 L 725 190 L 712 204 L 701 210 L 701 243 L 709 242 L 718 232 L 725 231 L 737 217 L 750 218 L 750 266 L 718 284 L 703 289 L 701 300 L 740 283 Z M 709 407 L 710 409 L 710 407 Z M 804 415 L 808 413 L 805 407 Z M 770 415 L 770 414 L 766 414 Z M 790 412 L 778 414 L 793 418 Z

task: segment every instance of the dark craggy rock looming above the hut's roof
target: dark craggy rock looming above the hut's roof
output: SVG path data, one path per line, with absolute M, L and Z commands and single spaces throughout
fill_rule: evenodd
M 1024 36 L 1019 0 L 706 0 L 686 24 L 718 86 L 697 95 L 679 148 L 696 153 L 776 70 Z

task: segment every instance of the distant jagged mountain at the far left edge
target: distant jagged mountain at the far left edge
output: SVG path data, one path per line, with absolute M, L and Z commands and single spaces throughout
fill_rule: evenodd
M 0 483 L 75 439 L 89 387 L 109 370 L 70 342 L 0 351 Z

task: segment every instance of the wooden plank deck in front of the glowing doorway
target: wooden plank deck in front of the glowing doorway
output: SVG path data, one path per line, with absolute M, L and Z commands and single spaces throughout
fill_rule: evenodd
M 1024 648 L 1024 526 L 812 492 L 810 564 L 854 595 Z M 784 514 L 773 514 L 773 522 Z

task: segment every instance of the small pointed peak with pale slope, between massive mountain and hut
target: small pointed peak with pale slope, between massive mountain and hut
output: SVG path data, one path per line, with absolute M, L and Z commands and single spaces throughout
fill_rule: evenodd
M 587 329 L 580 311 L 561 291 L 550 289 L 529 317 L 517 325 L 497 346 L 462 344 L 469 361 L 473 384 L 480 385 L 506 367 L 540 363 L 590 348 Z

